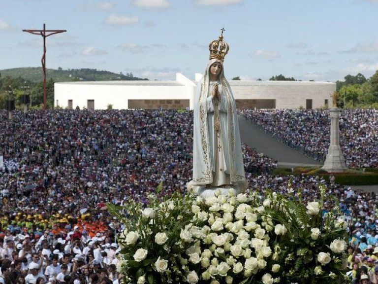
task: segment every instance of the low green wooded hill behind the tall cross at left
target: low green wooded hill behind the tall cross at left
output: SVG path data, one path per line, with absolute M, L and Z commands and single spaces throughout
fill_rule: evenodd
M 7 76 L 12 78 L 24 78 L 32 82 L 40 82 L 43 78 L 41 67 L 23 67 L 0 70 L 2 78 Z M 110 71 L 102 71 L 97 69 L 68 69 L 62 68 L 47 69 L 47 80 L 52 78 L 55 82 L 69 82 L 69 81 L 114 81 L 114 80 L 148 80 L 146 78 L 134 77 L 132 73 L 113 73 Z

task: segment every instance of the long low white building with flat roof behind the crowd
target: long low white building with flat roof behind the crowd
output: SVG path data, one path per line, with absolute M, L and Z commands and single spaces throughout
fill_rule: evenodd
M 201 74 L 196 74 L 196 81 Z M 63 108 L 193 108 L 196 81 L 177 73 L 172 81 L 55 83 L 55 106 Z M 336 83 L 229 81 L 238 108 L 319 108 L 332 102 Z

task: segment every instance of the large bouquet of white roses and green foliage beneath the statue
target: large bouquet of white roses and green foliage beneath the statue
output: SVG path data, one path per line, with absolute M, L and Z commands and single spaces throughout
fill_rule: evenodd
M 322 217 L 324 189 L 321 196 L 303 204 L 300 193 L 267 193 L 262 201 L 216 192 L 206 200 L 151 196 L 147 208 L 110 206 L 126 224 L 119 271 L 138 284 L 346 283 L 346 223 Z

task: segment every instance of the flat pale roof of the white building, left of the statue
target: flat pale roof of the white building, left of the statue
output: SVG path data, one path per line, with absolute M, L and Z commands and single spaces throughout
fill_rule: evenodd
M 107 86 L 184 86 L 177 81 L 153 81 L 153 80 L 137 80 L 137 81 L 75 81 L 75 82 L 56 82 L 55 84 L 67 85 L 107 85 Z

